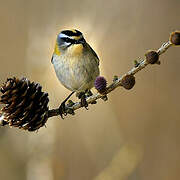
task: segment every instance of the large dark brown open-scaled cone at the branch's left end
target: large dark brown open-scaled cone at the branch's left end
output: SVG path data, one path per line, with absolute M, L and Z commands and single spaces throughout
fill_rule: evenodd
M 1 125 L 35 131 L 48 119 L 48 93 L 41 91 L 40 84 L 26 78 L 9 78 L 1 87 Z

